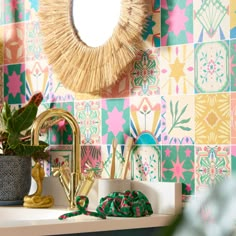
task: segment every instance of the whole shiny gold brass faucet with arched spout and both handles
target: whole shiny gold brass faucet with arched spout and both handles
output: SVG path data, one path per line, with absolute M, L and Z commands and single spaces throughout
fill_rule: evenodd
M 81 160 L 80 160 L 80 129 L 73 115 L 66 110 L 51 108 L 42 112 L 34 121 L 31 129 L 31 142 L 34 145 L 39 144 L 39 132 L 45 121 L 52 117 L 65 119 L 71 126 L 73 132 L 72 160 L 70 164 L 70 173 L 66 168 L 54 168 L 54 176 L 59 176 L 59 180 L 64 188 L 65 194 L 69 201 L 69 207 L 75 208 L 75 197 L 77 195 L 87 195 L 90 191 L 93 181 L 94 172 L 90 172 L 86 178 L 82 177 Z M 68 164 L 68 163 L 67 163 Z M 68 168 L 67 168 L 68 169 Z M 57 173 L 57 174 L 56 174 Z

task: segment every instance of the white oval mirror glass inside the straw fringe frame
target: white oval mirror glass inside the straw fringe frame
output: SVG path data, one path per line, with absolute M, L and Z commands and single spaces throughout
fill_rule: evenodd
M 84 43 L 98 47 L 112 36 L 121 0 L 73 0 L 72 6 L 73 23 Z

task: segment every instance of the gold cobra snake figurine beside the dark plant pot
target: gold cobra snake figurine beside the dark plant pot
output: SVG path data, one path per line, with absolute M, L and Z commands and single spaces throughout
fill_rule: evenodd
M 32 177 L 37 184 L 36 192 L 32 195 L 24 197 L 24 207 L 29 208 L 49 208 L 54 204 L 54 199 L 52 196 L 41 196 L 42 194 L 42 182 L 45 176 L 44 169 L 41 167 L 39 162 L 35 163 L 32 169 Z

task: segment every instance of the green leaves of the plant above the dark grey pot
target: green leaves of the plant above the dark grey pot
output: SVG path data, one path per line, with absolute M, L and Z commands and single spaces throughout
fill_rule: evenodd
M 11 110 L 10 105 L 4 102 L 0 114 L 1 155 L 26 156 L 34 160 L 48 157 L 45 152 L 48 144 L 40 141 L 39 145 L 32 145 L 30 136 L 30 128 L 42 99 L 42 94 L 37 93 L 25 106 L 17 110 Z

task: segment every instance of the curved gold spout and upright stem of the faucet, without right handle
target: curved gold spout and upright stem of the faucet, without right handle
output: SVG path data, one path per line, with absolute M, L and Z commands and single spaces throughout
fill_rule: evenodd
M 63 172 L 60 173 L 60 182 L 70 203 L 70 208 L 75 207 L 75 197 L 81 184 L 81 158 L 80 158 L 80 129 L 73 115 L 66 110 L 51 108 L 42 112 L 34 121 L 31 129 L 31 142 L 34 145 L 39 144 L 39 131 L 46 120 L 58 117 L 65 119 L 71 126 L 73 132 L 72 160 L 70 164 L 70 180 L 64 181 Z

